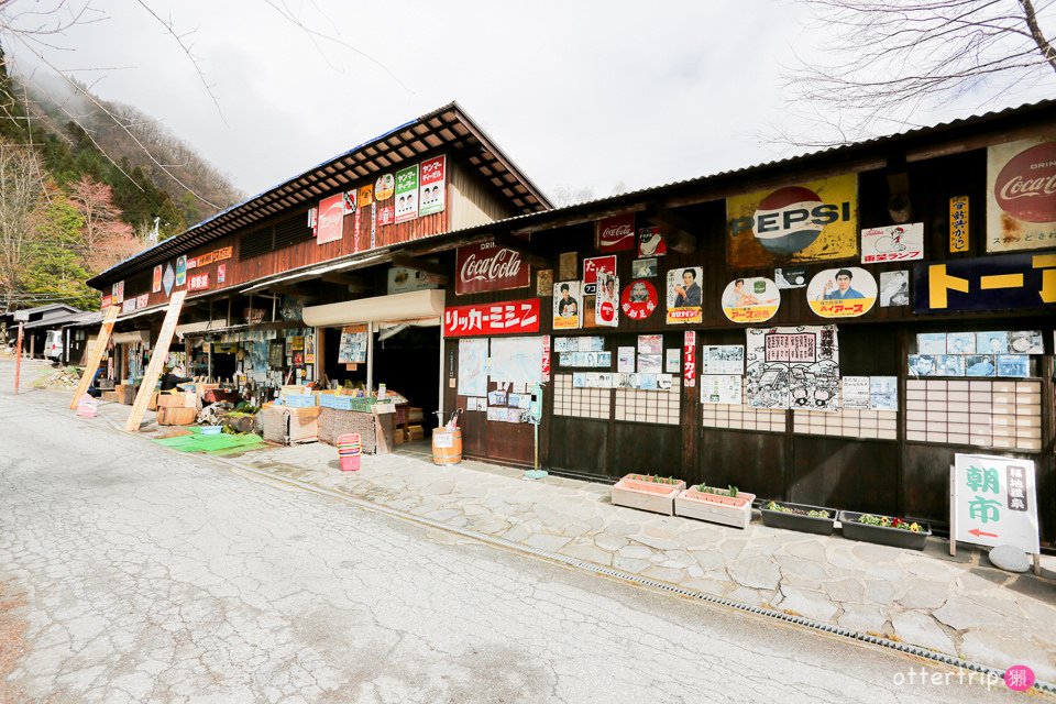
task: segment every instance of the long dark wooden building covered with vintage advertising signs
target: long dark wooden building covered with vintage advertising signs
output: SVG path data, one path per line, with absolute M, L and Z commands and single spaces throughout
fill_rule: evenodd
M 256 328 L 316 328 L 317 376 L 344 366 L 320 329 L 367 324 L 367 382 L 431 384 L 427 408 L 466 409 L 470 457 L 532 463 L 539 383 L 538 455 L 560 474 L 659 473 L 942 527 L 956 453 L 1028 458 L 1053 547 L 1054 140 L 1045 101 L 551 209 L 451 105 L 90 283 L 144 300 L 130 327 L 205 276 L 188 324 L 252 328 L 245 310 L 264 309 Z M 443 210 L 381 224 L 378 176 L 437 156 Z M 310 208 L 318 235 L 333 198 L 365 186 L 333 241 L 312 235 Z M 179 256 L 196 266 L 167 286 Z M 394 289 L 394 271 L 420 290 Z M 562 283 L 574 321 L 554 316 L 572 309 Z M 296 318 L 274 312 L 286 298 Z

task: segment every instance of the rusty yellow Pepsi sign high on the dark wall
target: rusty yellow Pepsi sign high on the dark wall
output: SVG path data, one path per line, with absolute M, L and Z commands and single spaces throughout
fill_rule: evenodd
M 732 268 L 858 254 L 858 177 L 845 174 L 726 199 Z

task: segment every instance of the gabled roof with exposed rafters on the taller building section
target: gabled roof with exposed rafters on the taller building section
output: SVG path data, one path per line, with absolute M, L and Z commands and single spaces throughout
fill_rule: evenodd
M 542 190 L 492 142 L 462 107 L 450 102 L 114 264 L 88 279 L 88 285 L 98 287 L 133 270 L 158 264 L 279 212 L 315 204 L 328 194 L 413 164 L 422 154 L 438 150 L 475 169 L 519 215 L 553 207 Z

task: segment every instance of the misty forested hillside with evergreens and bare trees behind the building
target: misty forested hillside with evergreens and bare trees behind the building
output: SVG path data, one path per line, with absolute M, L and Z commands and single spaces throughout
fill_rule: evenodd
M 242 198 L 158 121 L 88 96 L 20 81 L 0 48 L 0 310 L 97 307 L 85 280 L 155 222 L 165 239 Z

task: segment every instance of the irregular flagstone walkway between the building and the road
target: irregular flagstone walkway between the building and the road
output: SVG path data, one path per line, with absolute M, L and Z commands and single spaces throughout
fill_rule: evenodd
M 116 422 L 125 407 L 105 406 Z M 609 487 L 465 461 L 438 468 L 428 448 L 364 457 L 338 471 L 326 444 L 270 447 L 238 461 L 257 470 L 652 578 L 670 584 L 884 636 L 983 664 L 1031 667 L 1056 682 L 1056 559 L 1014 575 L 979 550 L 923 552 L 772 529 L 659 516 L 609 501 Z

